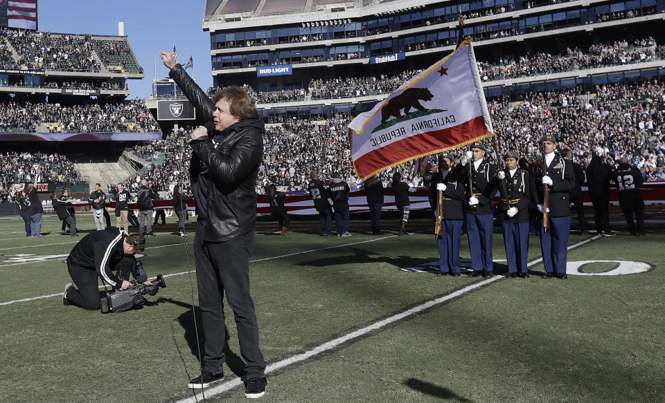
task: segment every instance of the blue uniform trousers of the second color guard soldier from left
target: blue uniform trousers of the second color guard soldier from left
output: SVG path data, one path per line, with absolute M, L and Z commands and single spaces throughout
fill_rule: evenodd
M 492 272 L 493 214 L 464 214 L 471 250 L 471 268 L 474 272 Z

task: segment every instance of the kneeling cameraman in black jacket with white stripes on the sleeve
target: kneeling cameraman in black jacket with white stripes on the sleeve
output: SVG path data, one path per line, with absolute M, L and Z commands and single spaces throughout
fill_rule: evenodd
M 140 276 L 134 270 L 134 254 L 145 249 L 145 238 L 141 235 L 127 235 L 116 227 L 100 229 L 84 236 L 67 257 L 69 276 L 78 290 L 69 283 L 64 288 L 62 303 L 75 305 L 87 310 L 100 308 L 100 295 L 97 277 L 116 290 L 132 287 L 129 279 L 132 272 L 134 279 L 145 285 L 151 285 L 147 276 Z M 120 273 L 120 277 L 114 274 Z

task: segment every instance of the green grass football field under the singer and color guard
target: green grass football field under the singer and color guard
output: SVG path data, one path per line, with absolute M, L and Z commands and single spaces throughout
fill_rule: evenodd
M 78 216 L 78 227 L 94 228 Z M 70 281 L 64 258 L 80 238 L 57 234 L 47 216 L 44 238 L 26 238 L 20 218 L 0 227 L 1 402 L 177 402 L 193 397 L 196 336 L 187 274 L 191 245 L 154 227 L 143 263 L 148 274 L 172 274 L 167 288 L 139 310 L 102 315 L 62 306 Z M 569 251 L 570 261 L 638 261 L 650 270 L 617 276 L 571 275 L 493 281 L 436 277 L 438 251 L 427 223 L 408 237 L 316 236 L 317 222 L 294 222 L 292 234 L 259 223 L 250 264 L 260 345 L 269 368 L 263 402 L 662 402 L 665 386 L 665 234 L 593 238 Z M 188 227 L 193 229 L 193 225 Z M 569 245 L 590 236 L 571 235 Z M 188 236 L 190 243 L 193 236 Z M 470 258 L 462 238 L 462 257 Z M 529 260 L 540 257 L 530 239 Z M 503 241 L 494 238 L 495 270 L 506 270 Z M 602 273 L 618 263 L 592 263 Z M 400 270 L 420 268 L 425 272 Z M 195 275 L 191 275 L 195 288 Z M 480 283 L 484 281 L 484 283 Z M 481 285 L 404 318 L 407 308 Z M 56 295 L 54 295 L 56 294 Z M 50 296 L 50 297 L 48 297 Z M 43 298 L 37 298 L 43 297 Z M 27 301 L 21 301 L 28 299 Z M 366 326 L 386 319 L 369 332 Z M 231 311 L 225 382 L 238 384 L 240 350 Z M 350 332 L 358 337 L 342 339 Z M 328 341 L 323 353 L 288 361 Z M 211 401 L 246 401 L 242 386 L 209 389 Z M 218 393 L 219 392 L 219 393 Z M 215 393 L 211 396 L 210 393 Z M 197 395 L 200 400 L 200 395 Z

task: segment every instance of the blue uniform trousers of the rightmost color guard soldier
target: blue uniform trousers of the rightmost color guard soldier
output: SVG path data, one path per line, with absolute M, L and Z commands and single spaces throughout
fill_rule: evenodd
M 540 250 L 545 272 L 566 274 L 568 256 L 568 236 L 570 235 L 570 216 L 550 217 L 549 232 L 544 233 L 542 216 L 540 222 Z

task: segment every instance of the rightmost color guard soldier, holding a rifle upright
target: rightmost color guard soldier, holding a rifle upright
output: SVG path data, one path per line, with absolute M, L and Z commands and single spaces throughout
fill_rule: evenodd
M 545 266 L 543 279 L 556 275 L 559 279 L 567 279 L 566 259 L 568 255 L 568 236 L 570 234 L 570 196 L 569 191 L 575 185 L 575 171 L 570 160 L 554 152 L 556 138 L 551 134 L 540 139 L 543 156 L 533 163 L 533 176 L 538 200 L 538 212 L 544 213 L 544 189 L 549 187 L 548 231 L 540 216 L 540 248 L 542 264 Z M 545 175 L 543 165 L 547 166 Z

